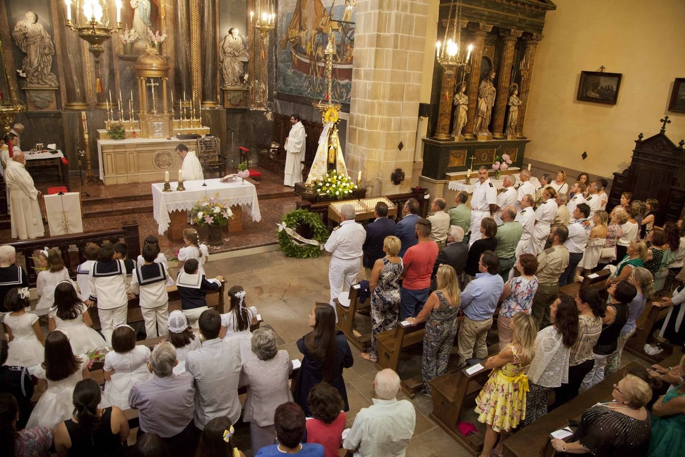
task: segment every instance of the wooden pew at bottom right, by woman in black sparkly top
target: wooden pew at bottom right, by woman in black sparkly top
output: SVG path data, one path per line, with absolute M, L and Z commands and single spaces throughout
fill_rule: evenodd
M 587 391 L 581 392 L 570 402 L 563 404 L 543 418 L 535 421 L 519 432 L 513 433 L 503 443 L 505 457 L 548 456 L 549 434 L 567 425 L 569 419 L 580 417 L 583 412 L 596 404 L 611 398 L 614 383 L 619 382 L 627 369 L 638 368 L 641 365 L 633 362 L 625 369 L 612 373 L 603 381 L 595 384 Z

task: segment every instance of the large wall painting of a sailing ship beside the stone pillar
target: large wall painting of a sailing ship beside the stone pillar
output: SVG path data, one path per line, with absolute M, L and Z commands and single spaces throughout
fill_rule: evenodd
M 352 90 L 356 0 L 281 0 L 277 19 L 277 90 L 309 99 L 326 97 L 325 55 L 335 38 L 332 99 L 349 103 Z M 307 101 L 301 100 L 303 103 Z

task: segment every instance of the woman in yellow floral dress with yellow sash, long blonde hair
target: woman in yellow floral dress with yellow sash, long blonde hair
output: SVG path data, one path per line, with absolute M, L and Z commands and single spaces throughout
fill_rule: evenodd
M 512 344 L 483 364 L 493 371 L 475 401 L 478 421 L 488 426 L 481 457 L 490 457 L 490 453 L 501 456 L 502 442 L 512 428 L 525 419 L 525 393 L 528 391 L 525 372 L 535 355 L 538 328 L 533 317 L 526 312 L 514 314 L 510 327 L 513 332 Z M 501 439 L 495 447 L 499 434 Z

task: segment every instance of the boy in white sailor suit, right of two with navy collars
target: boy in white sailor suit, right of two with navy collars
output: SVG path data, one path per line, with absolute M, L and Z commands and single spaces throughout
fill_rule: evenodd
M 160 248 L 156 245 L 142 245 L 142 258 L 145 264 L 134 269 L 131 277 L 131 291 L 140 294 L 140 313 L 145 321 L 146 338 L 169 334 L 169 294 L 166 293 L 166 280 L 169 271 L 164 264 L 155 263 Z

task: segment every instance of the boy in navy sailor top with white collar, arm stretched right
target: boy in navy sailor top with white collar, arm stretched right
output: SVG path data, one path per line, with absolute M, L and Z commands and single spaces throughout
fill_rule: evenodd
M 205 291 L 216 291 L 223 281 L 223 276 L 208 280 L 205 275 L 199 275 L 198 267 L 197 259 L 188 259 L 183 264 L 183 271 L 176 278 L 178 293 L 181 295 L 181 309 L 192 328 L 197 328 L 200 314 L 209 309 Z

